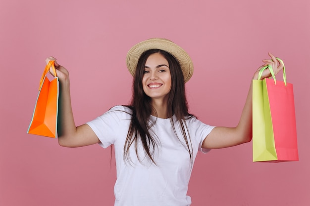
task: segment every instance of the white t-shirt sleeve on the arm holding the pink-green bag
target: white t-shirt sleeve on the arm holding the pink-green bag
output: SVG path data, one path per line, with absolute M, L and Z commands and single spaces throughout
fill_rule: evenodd
M 207 153 L 210 151 L 210 149 L 202 148 L 202 144 L 203 144 L 203 141 L 205 140 L 205 138 L 207 137 L 207 135 L 212 131 L 212 129 L 215 126 L 210 126 L 208 124 L 205 124 L 205 123 L 201 122 L 200 120 L 197 120 L 195 117 L 192 119 L 193 120 L 192 120 L 191 126 L 194 128 L 195 139 L 196 139 L 196 141 L 198 141 L 199 150 L 202 153 Z

